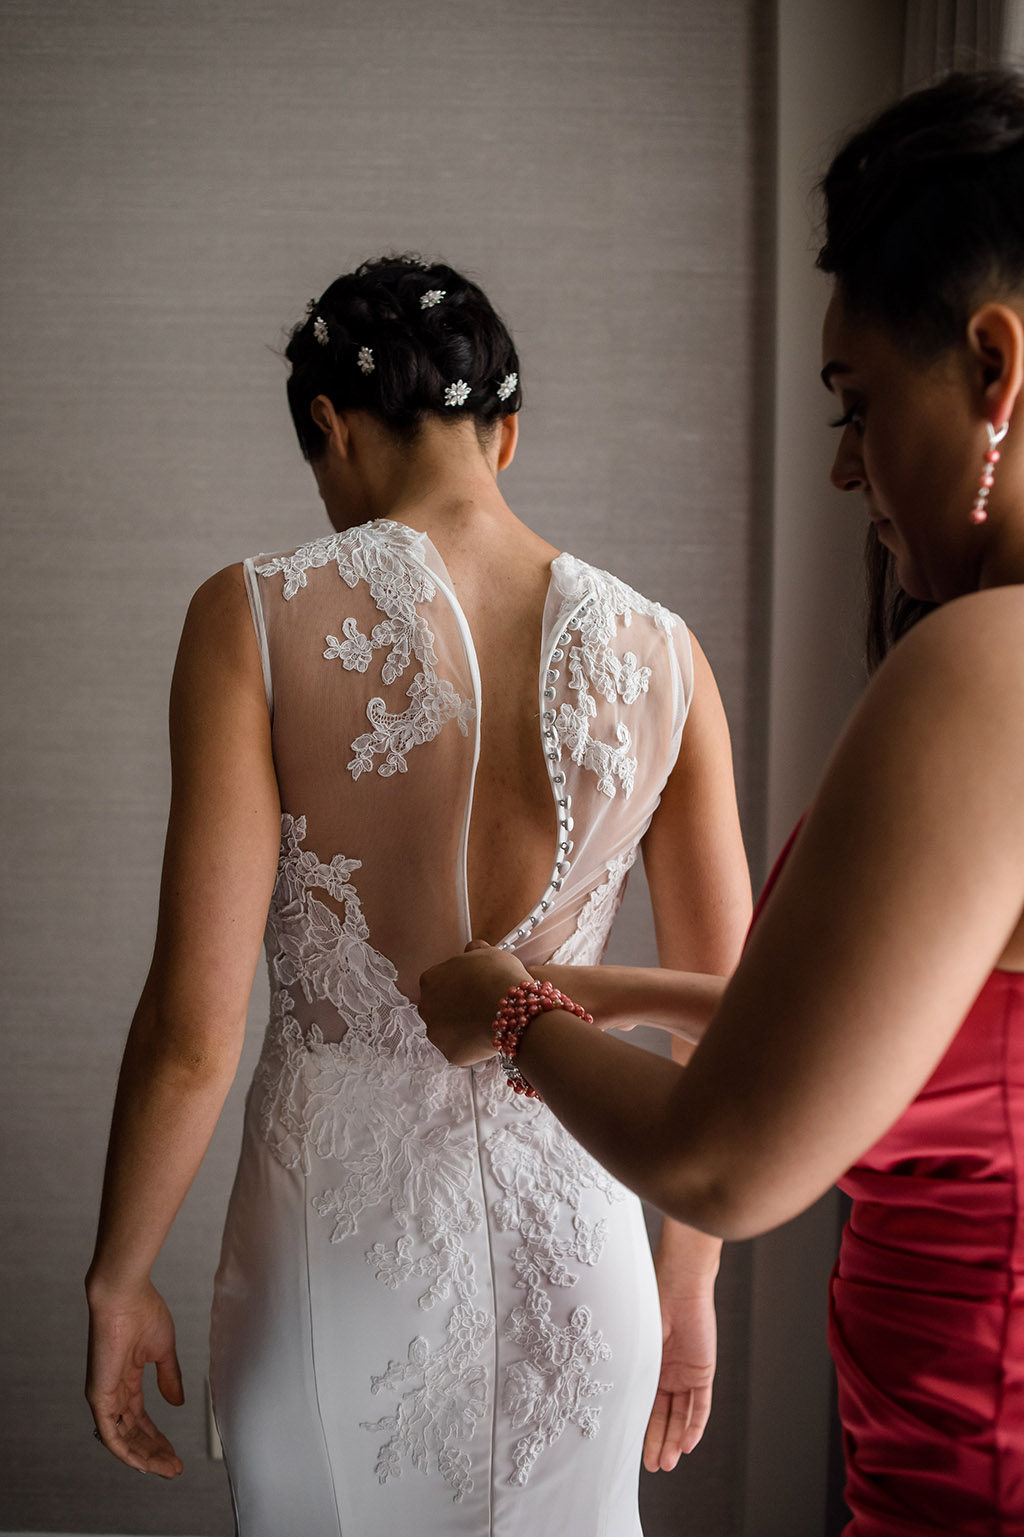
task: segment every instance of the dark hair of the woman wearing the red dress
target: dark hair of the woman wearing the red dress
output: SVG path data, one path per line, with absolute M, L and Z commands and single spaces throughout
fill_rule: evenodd
M 818 266 L 847 314 L 923 363 L 956 346 L 986 297 L 1024 290 L 1024 75 L 955 72 L 881 112 L 821 183 Z M 903 592 L 869 530 L 869 666 L 933 604 Z

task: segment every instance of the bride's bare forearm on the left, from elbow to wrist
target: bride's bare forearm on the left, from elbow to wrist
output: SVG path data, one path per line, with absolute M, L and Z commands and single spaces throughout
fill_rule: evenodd
M 157 1024 L 143 996 L 125 1047 L 88 1290 L 141 1285 L 203 1160 L 238 1065 L 244 1021 L 209 1045 Z

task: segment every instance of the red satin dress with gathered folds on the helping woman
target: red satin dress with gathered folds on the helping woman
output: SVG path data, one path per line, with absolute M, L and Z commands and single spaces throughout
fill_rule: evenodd
M 989 976 L 839 1188 L 853 1199 L 829 1299 L 844 1537 L 1021 1537 L 1024 974 Z

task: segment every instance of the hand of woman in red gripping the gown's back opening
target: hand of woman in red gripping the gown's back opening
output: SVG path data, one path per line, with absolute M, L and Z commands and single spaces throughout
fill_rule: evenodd
M 494 1016 L 510 987 L 529 982 L 526 967 L 507 950 L 472 941 L 461 956 L 432 965 L 420 978 L 420 1014 L 427 1036 L 457 1067 L 494 1056 Z

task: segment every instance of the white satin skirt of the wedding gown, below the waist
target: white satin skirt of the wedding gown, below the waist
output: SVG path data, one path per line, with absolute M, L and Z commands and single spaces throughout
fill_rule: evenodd
M 211 1337 L 238 1537 L 641 1537 L 640 1202 L 484 1099 L 392 1116 L 383 1154 L 367 1116 L 346 1168 L 288 1167 L 249 1107 Z

